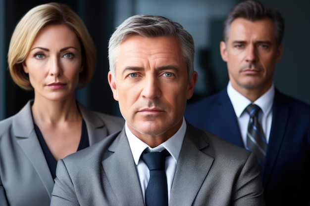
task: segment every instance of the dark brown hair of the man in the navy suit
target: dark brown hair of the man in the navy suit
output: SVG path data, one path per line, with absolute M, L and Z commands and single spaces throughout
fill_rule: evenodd
M 281 44 L 284 34 L 284 19 L 278 11 L 268 8 L 257 0 L 246 0 L 238 3 L 224 21 L 223 38 L 225 42 L 228 40 L 231 23 L 237 18 L 244 18 L 252 22 L 265 18 L 270 19 L 275 25 L 274 35 L 277 46 Z

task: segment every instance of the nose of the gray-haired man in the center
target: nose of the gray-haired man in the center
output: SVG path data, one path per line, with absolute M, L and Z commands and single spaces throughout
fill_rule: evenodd
M 155 99 L 161 94 L 160 82 L 155 76 L 145 77 L 141 86 L 143 98 Z

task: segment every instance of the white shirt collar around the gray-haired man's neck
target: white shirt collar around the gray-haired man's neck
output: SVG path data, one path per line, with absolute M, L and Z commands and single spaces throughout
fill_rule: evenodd
M 166 149 L 173 157 L 175 162 L 177 162 L 186 132 L 186 122 L 183 117 L 183 122 L 179 130 L 173 136 L 155 148 L 149 147 L 146 143 L 136 137 L 128 128 L 127 123 L 125 124 L 125 132 L 136 165 L 138 165 L 140 156 L 146 148 L 149 148 L 151 152 L 159 152 L 163 149 Z

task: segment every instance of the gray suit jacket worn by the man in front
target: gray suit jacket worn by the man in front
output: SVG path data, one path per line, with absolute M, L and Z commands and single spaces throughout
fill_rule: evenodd
M 51 206 L 144 206 L 124 129 L 58 161 Z M 264 206 L 256 157 L 187 124 L 170 206 Z

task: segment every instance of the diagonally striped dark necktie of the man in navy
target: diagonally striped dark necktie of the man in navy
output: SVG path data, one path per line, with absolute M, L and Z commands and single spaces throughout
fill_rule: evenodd
M 260 108 L 255 104 L 250 104 L 246 108 L 246 111 L 250 115 L 247 132 L 247 149 L 256 154 L 259 165 L 263 167 L 267 150 L 267 142 L 262 127 L 258 122 L 259 110 Z

